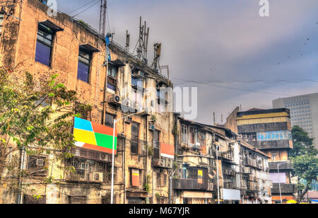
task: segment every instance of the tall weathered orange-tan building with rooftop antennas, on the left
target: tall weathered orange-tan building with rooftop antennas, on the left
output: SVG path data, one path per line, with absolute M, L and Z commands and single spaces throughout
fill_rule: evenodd
M 33 172 L 32 178 L 23 179 L 28 188 L 22 196 L 1 188 L 0 202 L 109 203 L 116 119 L 114 202 L 167 203 L 174 121 L 168 110 L 172 98 L 169 93 L 162 95 L 160 88 L 172 87 L 170 80 L 115 42 L 108 46 L 109 63 L 103 64 L 107 61 L 104 36 L 64 13 L 48 16 L 47 10 L 37 0 L 6 1 L 0 13 L 0 65 L 22 63 L 21 71 L 34 76 L 59 74 L 68 89 L 78 92 L 81 103 L 93 107 L 74 119 L 74 157 L 56 162 L 51 154 L 23 153 L 21 167 Z M 153 95 L 148 88 L 155 90 Z M 8 172 L 2 173 L 1 180 L 6 176 Z M 52 183 L 40 183 L 47 176 L 54 178 Z

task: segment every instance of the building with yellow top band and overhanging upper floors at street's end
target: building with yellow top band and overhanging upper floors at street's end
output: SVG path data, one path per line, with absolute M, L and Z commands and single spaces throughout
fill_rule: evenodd
M 226 126 L 236 130 L 242 140 L 271 157 L 269 172 L 273 183 L 273 202 L 280 202 L 281 196 L 282 200 L 294 199 L 297 190 L 296 185 L 291 184 L 292 166 L 288 161 L 288 150 L 293 149 L 290 111 L 286 108 L 254 108 L 241 112 L 240 108 L 236 108 L 228 117 Z

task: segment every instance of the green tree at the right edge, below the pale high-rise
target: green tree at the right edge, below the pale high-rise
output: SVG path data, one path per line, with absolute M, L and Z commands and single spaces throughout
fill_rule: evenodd
M 293 176 L 298 178 L 298 203 L 302 201 L 305 194 L 312 188 L 312 181 L 317 180 L 318 158 L 317 149 L 312 142 L 314 139 L 308 137 L 307 132 L 299 126 L 292 130 L 294 149 L 289 152 L 289 159 L 293 163 Z M 305 180 L 305 185 L 300 183 Z

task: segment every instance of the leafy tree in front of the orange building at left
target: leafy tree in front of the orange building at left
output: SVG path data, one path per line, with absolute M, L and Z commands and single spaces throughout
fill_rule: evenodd
M 16 69 L 0 69 L 0 176 L 4 171 L 9 175 L 0 178 L 4 187 L 17 193 L 23 191 L 23 179 L 33 178 L 34 173 L 20 168 L 23 154 L 71 158 L 72 118 L 81 117 L 78 110 L 91 110 L 86 104 L 75 108 L 76 91 L 67 90 L 57 74 L 42 75 L 35 79 L 28 72 L 23 76 Z M 52 179 L 37 178 L 37 182 L 49 183 Z

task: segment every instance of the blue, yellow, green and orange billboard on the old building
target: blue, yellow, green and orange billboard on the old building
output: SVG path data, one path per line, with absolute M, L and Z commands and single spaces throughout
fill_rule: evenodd
M 112 134 L 114 129 L 81 118 L 74 118 L 76 147 L 112 154 Z M 114 154 L 117 153 L 117 131 L 115 131 Z

